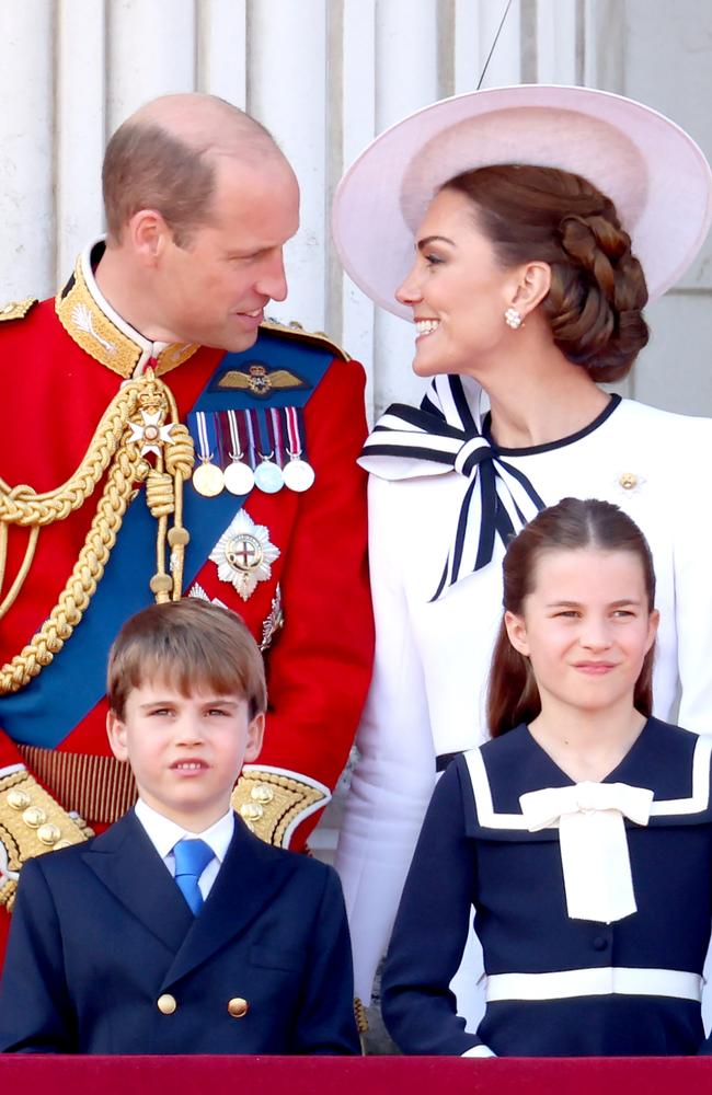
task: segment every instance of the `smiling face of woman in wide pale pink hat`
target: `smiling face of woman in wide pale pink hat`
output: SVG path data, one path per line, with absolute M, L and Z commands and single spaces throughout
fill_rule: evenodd
M 441 191 L 418 229 L 413 268 L 395 295 L 413 309 L 414 371 L 421 377 L 479 374 L 513 337 L 504 312 L 518 280 L 518 268 L 498 264 L 472 203 L 456 191 Z

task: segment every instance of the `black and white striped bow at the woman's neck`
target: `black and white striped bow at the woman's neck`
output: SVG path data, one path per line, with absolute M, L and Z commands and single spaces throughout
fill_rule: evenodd
M 496 537 L 506 546 L 544 508 L 527 476 L 484 436 L 481 412 L 472 413 L 466 384 L 470 399 L 476 396 L 474 381 L 444 376 L 435 378 L 420 407 L 394 403 L 374 427 L 358 461 L 387 480 L 456 471 L 467 481 L 434 601 L 492 561 Z

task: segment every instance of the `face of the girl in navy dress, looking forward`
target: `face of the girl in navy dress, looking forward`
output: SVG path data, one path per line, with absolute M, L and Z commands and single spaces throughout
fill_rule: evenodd
M 657 622 L 639 557 L 589 548 L 542 552 L 524 613 L 505 614 L 512 645 L 531 661 L 542 711 L 632 706 Z

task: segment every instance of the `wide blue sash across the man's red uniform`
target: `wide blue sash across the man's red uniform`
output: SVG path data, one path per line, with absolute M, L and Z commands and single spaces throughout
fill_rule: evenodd
M 285 338 L 284 334 L 262 330 L 249 350 L 221 358 L 192 410 L 303 406 L 333 357 L 328 347 L 322 349 L 307 339 Z M 298 374 L 300 387 L 294 391 L 275 390 L 266 396 L 255 396 L 249 389 L 220 388 L 227 372 L 249 372 L 249 366 L 255 362 L 264 365 L 268 373 L 288 368 Z M 191 542 L 185 553 L 185 589 L 195 580 L 245 497 L 236 498 L 223 491 L 216 498 L 204 498 L 186 484 L 183 520 L 191 532 Z M 153 602 L 149 581 L 154 570 L 156 519 L 141 492 L 124 517 L 104 576 L 65 647 L 24 689 L 0 696 L 0 727 L 14 741 L 55 748 L 96 705 L 106 691 L 111 644 L 130 615 Z

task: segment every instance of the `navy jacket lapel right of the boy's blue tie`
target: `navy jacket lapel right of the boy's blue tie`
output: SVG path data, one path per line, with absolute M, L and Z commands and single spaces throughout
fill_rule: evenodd
M 234 833 L 208 899 L 168 970 L 161 992 L 244 932 L 274 901 L 295 869 L 285 855 L 234 819 Z

